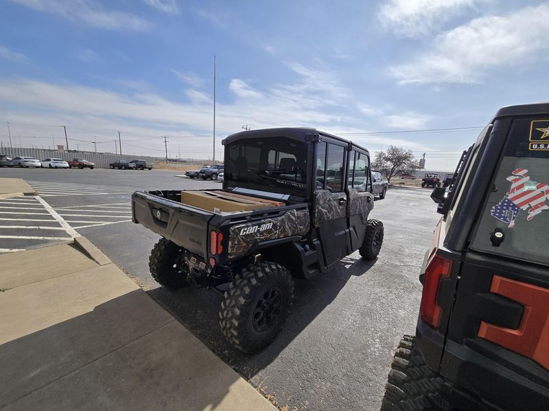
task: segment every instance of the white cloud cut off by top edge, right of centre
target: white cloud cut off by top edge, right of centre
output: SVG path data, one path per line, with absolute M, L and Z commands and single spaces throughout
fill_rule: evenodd
M 390 0 L 377 14 L 385 29 L 403 36 L 428 34 L 436 25 L 482 0 Z

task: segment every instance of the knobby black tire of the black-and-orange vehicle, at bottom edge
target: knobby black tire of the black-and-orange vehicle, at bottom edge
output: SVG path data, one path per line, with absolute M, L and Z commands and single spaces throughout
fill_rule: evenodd
M 452 410 L 443 379 L 425 364 L 415 337 L 400 340 L 390 368 L 381 411 Z

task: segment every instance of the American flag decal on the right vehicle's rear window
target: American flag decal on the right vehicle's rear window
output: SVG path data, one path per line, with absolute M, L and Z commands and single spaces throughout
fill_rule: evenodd
M 527 221 L 543 210 L 549 210 L 546 203 L 549 200 L 549 186 L 546 183 L 539 183 L 535 189 L 526 190 L 526 182 L 530 180 L 528 170 L 516 169 L 512 174 L 507 177 L 507 181 L 511 182 L 511 189 L 505 198 L 490 210 L 491 216 L 509 223 L 509 227 L 514 227 L 520 210 L 528 210 Z

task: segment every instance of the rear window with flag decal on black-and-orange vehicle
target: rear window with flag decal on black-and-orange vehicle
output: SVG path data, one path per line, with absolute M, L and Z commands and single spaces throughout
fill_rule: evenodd
M 513 122 L 488 190 L 471 248 L 549 265 L 549 121 Z

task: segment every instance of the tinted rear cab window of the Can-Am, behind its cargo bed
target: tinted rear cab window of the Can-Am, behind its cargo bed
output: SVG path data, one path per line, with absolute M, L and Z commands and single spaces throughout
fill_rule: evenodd
M 306 197 L 307 143 L 288 137 L 242 138 L 225 147 L 226 188 Z

